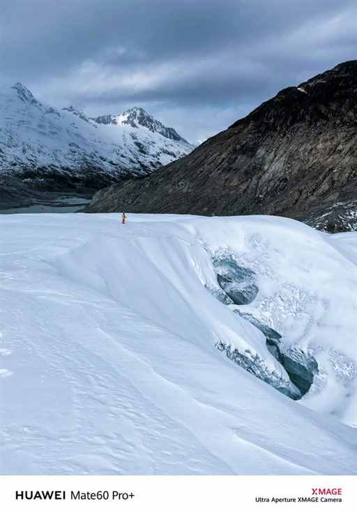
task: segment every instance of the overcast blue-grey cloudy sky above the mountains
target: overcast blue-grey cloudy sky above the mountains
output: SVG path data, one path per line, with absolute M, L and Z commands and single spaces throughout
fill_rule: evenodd
M 356 0 L 2 0 L 0 86 L 91 116 L 142 106 L 196 143 L 356 59 L 356 24 Z

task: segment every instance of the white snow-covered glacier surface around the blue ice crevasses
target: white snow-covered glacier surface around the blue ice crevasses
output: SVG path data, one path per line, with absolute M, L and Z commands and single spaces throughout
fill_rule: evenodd
M 0 473 L 357 472 L 356 429 L 339 420 L 357 422 L 354 378 L 331 364 L 356 362 L 353 234 L 278 217 L 130 215 L 123 226 L 116 214 L 41 214 L 0 224 Z M 289 385 L 262 332 L 220 302 L 218 255 L 255 271 L 257 297 L 239 309 L 319 360 L 301 401 L 216 347 L 259 355 Z

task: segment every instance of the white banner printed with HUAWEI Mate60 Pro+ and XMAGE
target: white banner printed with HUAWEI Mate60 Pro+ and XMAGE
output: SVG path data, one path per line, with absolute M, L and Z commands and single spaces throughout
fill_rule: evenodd
M 0 482 L 6 515 L 356 511 L 354 476 L 2 476 Z

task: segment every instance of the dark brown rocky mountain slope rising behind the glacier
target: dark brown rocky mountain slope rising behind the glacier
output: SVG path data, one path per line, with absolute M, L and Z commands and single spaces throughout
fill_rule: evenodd
M 99 192 L 87 210 L 271 214 L 356 228 L 356 92 L 357 61 L 342 63 L 283 89 L 152 176 Z

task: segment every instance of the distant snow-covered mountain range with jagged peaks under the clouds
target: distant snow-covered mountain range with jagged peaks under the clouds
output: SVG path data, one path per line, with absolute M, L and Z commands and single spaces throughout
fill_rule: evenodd
M 140 175 L 192 148 L 142 108 L 94 121 L 74 107 L 59 110 L 40 102 L 20 83 L 0 93 L 2 174 L 52 180 Z

